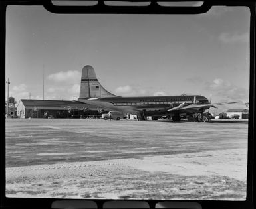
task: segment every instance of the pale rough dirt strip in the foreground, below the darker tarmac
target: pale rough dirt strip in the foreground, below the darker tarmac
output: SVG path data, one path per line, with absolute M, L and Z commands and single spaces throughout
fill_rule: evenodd
M 246 155 L 244 149 L 230 149 L 224 154 L 208 151 L 12 167 L 7 169 L 7 194 L 34 198 L 245 200 L 246 162 L 234 163 L 238 153 L 239 157 Z M 223 161 L 223 155 L 229 157 Z

